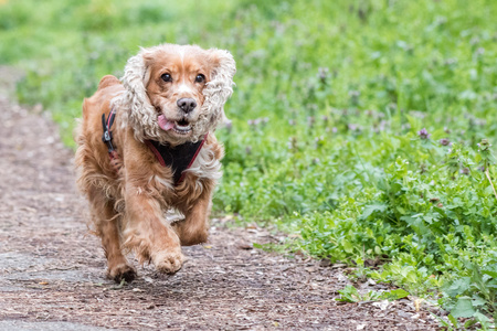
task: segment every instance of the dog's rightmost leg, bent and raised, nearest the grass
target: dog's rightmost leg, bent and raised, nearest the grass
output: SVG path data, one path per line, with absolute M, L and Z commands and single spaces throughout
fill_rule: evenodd
M 205 243 L 209 236 L 209 214 L 211 211 L 211 194 L 204 192 L 193 201 L 190 207 L 180 207 L 184 220 L 172 223 L 182 246 L 191 246 Z

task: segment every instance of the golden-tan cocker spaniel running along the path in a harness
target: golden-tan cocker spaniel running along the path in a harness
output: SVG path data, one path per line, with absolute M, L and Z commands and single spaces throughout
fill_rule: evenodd
M 235 72 L 228 51 L 162 44 L 141 49 L 120 81 L 104 76 L 84 99 L 76 182 L 89 202 L 108 278 L 135 279 L 129 252 L 175 274 L 184 260 L 181 246 L 207 242 L 224 154 L 214 130 L 225 118 Z M 169 223 L 170 210 L 183 218 Z

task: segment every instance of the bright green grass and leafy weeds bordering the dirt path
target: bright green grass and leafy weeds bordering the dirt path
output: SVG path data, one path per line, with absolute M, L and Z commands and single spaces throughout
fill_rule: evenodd
M 0 62 L 27 71 L 20 100 L 42 103 L 73 146 L 83 97 L 139 45 L 230 50 L 237 86 L 215 211 L 274 223 L 318 258 L 381 260 L 364 273 L 485 327 L 497 295 L 496 14 L 491 0 L 9 1 Z

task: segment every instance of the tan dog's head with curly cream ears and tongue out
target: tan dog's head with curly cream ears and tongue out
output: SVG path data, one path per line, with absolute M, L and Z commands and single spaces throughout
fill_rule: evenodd
M 198 141 L 224 118 L 233 93 L 233 56 L 223 50 L 163 44 L 128 60 L 126 92 L 115 103 L 126 108 L 135 138 L 170 145 Z

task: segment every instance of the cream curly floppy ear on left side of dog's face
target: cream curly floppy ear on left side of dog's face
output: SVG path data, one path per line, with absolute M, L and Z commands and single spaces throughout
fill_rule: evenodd
M 150 78 L 150 70 L 147 66 L 145 49 L 128 60 L 125 74 L 121 78 L 126 88 L 124 98 L 127 109 L 127 118 L 134 128 L 135 138 L 144 141 L 145 135 L 158 136 L 157 115 L 148 98 L 146 86 Z

